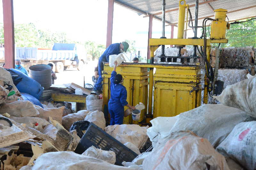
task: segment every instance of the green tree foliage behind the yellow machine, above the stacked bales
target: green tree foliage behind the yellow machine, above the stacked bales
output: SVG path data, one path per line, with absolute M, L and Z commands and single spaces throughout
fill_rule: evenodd
M 249 19 L 241 21 L 246 21 Z M 209 32 L 211 32 L 211 27 L 209 28 Z M 208 27 L 206 27 L 206 35 L 208 38 L 209 32 Z M 228 39 L 228 43 L 220 44 L 220 47 L 256 46 L 256 19 L 230 25 L 230 29 L 226 32 L 226 39 Z M 213 43 L 212 46 L 219 46 L 219 44 Z

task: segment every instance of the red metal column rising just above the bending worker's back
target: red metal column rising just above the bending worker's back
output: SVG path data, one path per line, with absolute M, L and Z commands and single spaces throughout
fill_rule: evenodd
M 114 13 L 114 0 L 108 0 L 108 25 L 107 25 L 106 48 L 108 48 L 108 46 L 112 44 L 113 13 Z

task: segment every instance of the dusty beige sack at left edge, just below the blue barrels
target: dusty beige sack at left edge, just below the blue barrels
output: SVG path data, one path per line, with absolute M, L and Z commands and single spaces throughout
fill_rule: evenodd
M 8 113 L 15 117 L 36 117 L 39 112 L 30 101 L 18 100 L 12 103 L 4 104 L 0 108 L 0 113 Z

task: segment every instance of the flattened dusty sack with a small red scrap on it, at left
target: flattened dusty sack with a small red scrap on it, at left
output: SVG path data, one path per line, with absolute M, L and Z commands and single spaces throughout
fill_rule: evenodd
M 42 132 L 44 127 L 48 124 L 50 124 L 45 119 L 42 119 L 40 117 L 13 117 L 11 116 L 10 119 L 14 120 L 15 122 L 19 124 L 26 124 L 26 127 L 31 127 L 36 129 L 37 131 Z M 36 126 L 36 123 L 38 125 Z

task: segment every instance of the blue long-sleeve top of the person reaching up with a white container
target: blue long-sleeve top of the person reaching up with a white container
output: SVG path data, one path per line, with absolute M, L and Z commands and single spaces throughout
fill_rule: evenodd
M 128 104 L 127 99 L 127 91 L 126 88 L 122 84 L 116 84 L 115 81 L 116 72 L 112 71 L 110 77 L 110 98 L 115 102 L 120 102 L 122 106 Z

